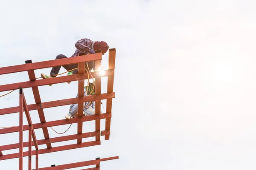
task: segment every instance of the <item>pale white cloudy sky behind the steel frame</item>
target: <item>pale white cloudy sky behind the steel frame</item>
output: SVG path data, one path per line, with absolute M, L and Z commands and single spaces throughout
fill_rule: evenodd
M 81 38 L 116 48 L 110 140 L 102 137 L 100 146 L 39 155 L 39 167 L 119 156 L 102 162 L 101 169 L 254 170 L 255 5 L 249 0 L 0 2 L 0 67 L 71 56 Z M 41 72 L 49 74 L 50 68 L 35 71 L 36 77 Z M 26 72 L 1 75 L 0 85 L 28 79 Z M 77 88 L 71 82 L 39 91 L 42 102 L 48 102 L 75 97 Z M 35 102 L 32 90 L 24 94 L 28 104 Z M 0 108 L 17 106 L 18 91 L 0 103 Z M 52 121 L 64 119 L 68 109 L 44 113 Z M 38 123 L 38 113 L 30 113 Z M 0 126 L 13 125 L 18 125 L 17 113 L 1 116 Z M 86 122 L 83 132 L 94 128 L 94 122 Z M 50 137 L 60 136 L 48 130 Z M 72 125 L 65 135 L 76 132 Z M 36 133 L 43 139 L 42 130 Z M 18 133 L 0 135 L 0 145 L 17 142 Z M 0 167 L 16 170 L 18 159 L 0 161 Z

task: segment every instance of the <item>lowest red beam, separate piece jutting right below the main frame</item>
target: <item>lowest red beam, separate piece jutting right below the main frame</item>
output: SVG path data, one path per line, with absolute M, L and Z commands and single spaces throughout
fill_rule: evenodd
M 44 167 L 44 168 L 39 168 L 39 170 L 67 170 L 70 168 L 96 165 L 96 164 L 99 164 L 101 161 L 113 160 L 113 159 L 119 159 L 119 157 L 115 156 L 115 157 L 104 158 L 104 159 L 96 159 L 96 160 L 91 160 L 91 161 L 82 161 L 82 162 L 76 162 L 76 163 L 71 163 L 71 164 L 57 165 L 55 167 Z M 95 168 L 89 168 L 89 169 L 84 169 L 84 170 L 98 170 L 99 169 L 99 168 L 96 168 L 96 169 Z

